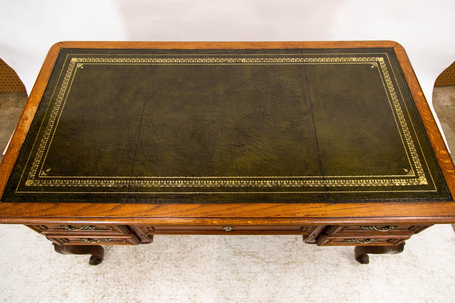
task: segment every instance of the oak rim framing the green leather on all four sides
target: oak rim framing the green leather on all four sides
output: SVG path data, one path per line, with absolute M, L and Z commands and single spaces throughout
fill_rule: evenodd
M 394 41 L 59 42 L 51 47 L 0 165 L 0 196 L 61 49 L 393 48 L 452 196 L 455 167 L 404 48 Z M 333 225 L 455 223 L 455 203 L 0 203 L 4 224 Z M 197 232 L 194 232 L 197 233 Z M 268 234 L 264 231 L 263 234 Z

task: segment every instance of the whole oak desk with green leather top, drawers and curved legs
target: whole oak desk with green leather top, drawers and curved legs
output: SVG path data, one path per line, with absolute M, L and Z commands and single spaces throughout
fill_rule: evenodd
M 60 42 L 0 167 L 0 223 L 59 253 L 299 234 L 399 253 L 455 222 L 454 164 L 401 45 Z

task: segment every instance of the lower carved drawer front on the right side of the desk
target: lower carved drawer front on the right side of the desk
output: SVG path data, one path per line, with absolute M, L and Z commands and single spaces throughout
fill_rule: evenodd
M 347 245 L 397 245 L 406 239 L 409 239 L 410 235 L 345 235 L 344 237 L 330 236 L 322 234 L 319 236 L 316 244 L 319 246 L 347 246 Z

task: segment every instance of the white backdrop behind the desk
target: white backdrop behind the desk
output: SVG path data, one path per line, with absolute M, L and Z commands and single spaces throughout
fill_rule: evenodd
M 454 11 L 453 0 L 0 0 L 0 58 L 30 93 L 58 41 L 394 40 L 431 104 L 455 60 Z

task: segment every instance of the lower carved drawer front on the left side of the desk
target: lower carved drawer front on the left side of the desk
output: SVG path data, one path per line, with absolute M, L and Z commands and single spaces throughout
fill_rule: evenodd
M 138 245 L 135 234 L 46 234 L 46 238 L 59 244 L 67 245 Z

